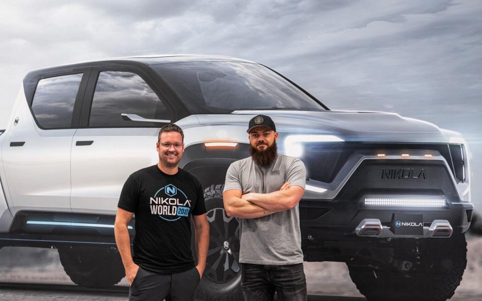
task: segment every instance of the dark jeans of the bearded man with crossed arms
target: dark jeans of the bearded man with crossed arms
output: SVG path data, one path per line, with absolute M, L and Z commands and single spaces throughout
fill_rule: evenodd
M 263 265 L 242 263 L 241 288 L 246 301 L 306 301 L 303 263 Z

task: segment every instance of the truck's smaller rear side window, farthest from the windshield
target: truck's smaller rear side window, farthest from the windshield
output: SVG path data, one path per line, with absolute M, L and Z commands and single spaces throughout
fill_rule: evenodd
M 44 128 L 70 127 L 82 73 L 44 78 L 37 84 L 32 111 Z

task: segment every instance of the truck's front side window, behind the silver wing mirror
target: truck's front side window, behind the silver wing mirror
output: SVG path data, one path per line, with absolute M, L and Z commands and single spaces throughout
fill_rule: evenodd
M 90 110 L 89 126 L 159 126 L 159 123 L 124 120 L 122 113 L 146 119 L 170 119 L 170 112 L 137 74 L 99 73 Z

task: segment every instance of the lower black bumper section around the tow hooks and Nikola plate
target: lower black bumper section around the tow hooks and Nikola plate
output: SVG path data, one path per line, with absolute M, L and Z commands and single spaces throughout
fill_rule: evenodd
M 310 202 L 311 203 L 311 202 Z M 450 227 L 452 233 L 464 233 L 470 226 L 473 205 L 471 203 L 451 203 L 448 208 L 359 208 L 358 206 L 347 203 L 331 203 L 329 208 L 325 206 L 313 207 L 305 206 L 303 200 L 300 202 L 300 225 L 303 239 L 310 240 L 344 240 L 350 237 L 379 237 L 379 238 L 440 238 L 444 236 L 434 236 L 435 224 Z M 314 217 L 317 212 L 321 216 Z M 420 215 L 423 220 L 423 234 L 401 235 L 395 234 L 395 215 L 396 214 Z M 308 218 L 307 218 L 308 217 Z M 435 221 L 444 221 L 436 222 Z M 360 235 L 361 227 L 365 221 L 371 224 L 380 225 L 380 233 L 377 235 Z M 357 230 L 358 229 L 358 230 Z M 372 233 L 375 234 L 375 233 Z M 450 237 L 449 236 L 449 237 Z

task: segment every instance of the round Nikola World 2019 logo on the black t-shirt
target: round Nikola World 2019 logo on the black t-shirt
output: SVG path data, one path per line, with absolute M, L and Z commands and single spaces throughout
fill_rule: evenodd
M 175 221 L 188 216 L 191 201 L 186 194 L 176 186 L 169 184 L 159 189 L 149 200 L 151 214 L 158 215 L 166 221 Z

